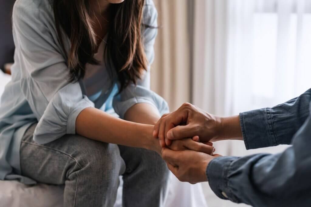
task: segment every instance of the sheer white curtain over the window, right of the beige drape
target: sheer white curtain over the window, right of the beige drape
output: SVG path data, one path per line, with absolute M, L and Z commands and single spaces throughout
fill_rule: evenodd
M 195 105 L 216 115 L 236 115 L 311 88 L 310 0 L 194 2 Z M 243 156 L 286 146 L 246 151 L 243 142 L 224 141 L 215 147 L 223 155 Z

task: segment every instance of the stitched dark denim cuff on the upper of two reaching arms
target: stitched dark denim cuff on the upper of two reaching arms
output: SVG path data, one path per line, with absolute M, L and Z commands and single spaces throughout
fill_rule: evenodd
M 271 108 L 240 113 L 240 124 L 246 149 L 279 145 Z

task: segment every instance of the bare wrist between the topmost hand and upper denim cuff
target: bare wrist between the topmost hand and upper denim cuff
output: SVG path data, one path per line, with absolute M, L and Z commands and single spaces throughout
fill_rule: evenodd
M 243 140 L 239 115 L 221 118 L 218 140 Z

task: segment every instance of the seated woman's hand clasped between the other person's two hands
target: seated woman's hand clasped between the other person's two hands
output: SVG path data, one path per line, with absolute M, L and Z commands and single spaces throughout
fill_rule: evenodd
M 169 149 L 173 151 L 184 151 L 184 150 L 193 150 L 197 152 L 204 152 L 206 154 L 213 154 L 215 148 L 211 142 L 198 142 L 198 139 L 195 141 L 191 138 L 184 138 L 180 140 L 174 140 L 174 142 L 168 146 Z

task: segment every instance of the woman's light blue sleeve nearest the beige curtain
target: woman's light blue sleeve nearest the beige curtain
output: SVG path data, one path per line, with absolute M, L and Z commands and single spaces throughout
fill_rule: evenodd
M 150 90 L 150 65 L 154 60 L 154 43 L 157 36 L 157 17 L 158 13 L 152 0 L 147 0 L 143 11 L 143 22 L 146 27 L 143 31 L 144 50 L 148 60 L 148 68 L 142 79 L 137 85 L 130 84 L 120 94 L 114 97 L 113 107 L 115 112 L 124 118 L 126 111 L 137 103 L 148 103 L 158 109 L 159 114 L 163 115 L 169 112 L 166 101 Z

